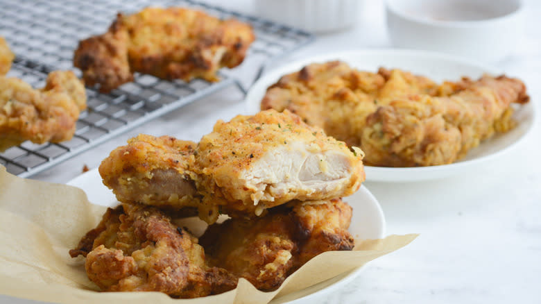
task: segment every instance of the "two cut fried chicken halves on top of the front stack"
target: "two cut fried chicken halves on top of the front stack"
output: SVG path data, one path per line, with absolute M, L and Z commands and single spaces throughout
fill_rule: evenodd
M 297 115 L 268 110 L 218 121 L 199 144 L 139 135 L 99 170 L 122 203 L 198 208 L 214 223 L 220 212 L 253 217 L 293 199 L 353 194 L 365 178 L 362 157 Z

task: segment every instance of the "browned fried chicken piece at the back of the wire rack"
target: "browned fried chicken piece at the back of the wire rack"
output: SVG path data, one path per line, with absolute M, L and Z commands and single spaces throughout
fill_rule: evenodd
M 255 40 L 252 28 L 187 8 L 145 8 L 118 14 L 107 33 L 79 43 L 74 65 L 87 85 L 109 92 L 133 72 L 163 79 L 218 81 L 221 67 L 236 67 Z

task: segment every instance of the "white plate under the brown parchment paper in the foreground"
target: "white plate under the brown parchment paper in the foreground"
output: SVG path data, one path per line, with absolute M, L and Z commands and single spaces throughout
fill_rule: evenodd
M 67 185 L 83 189 L 90 203 L 108 207 L 118 204 L 111 190 L 101 182 L 98 169 L 92 169 L 77 176 L 73 180 L 70 180 Z M 356 239 L 381 239 L 384 237 L 385 218 L 383 211 L 375 197 L 366 187 L 361 186 L 359 191 L 355 192 L 352 196 L 348 196 L 344 201 L 347 201 L 353 207 L 353 217 L 349 230 Z M 363 269 L 364 267 L 359 267 L 349 273 L 343 273 L 340 276 L 312 285 L 293 294 L 275 298 L 271 303 L 308 303 L 310 299 L 333 292 L 347 282 L 350 282 Z

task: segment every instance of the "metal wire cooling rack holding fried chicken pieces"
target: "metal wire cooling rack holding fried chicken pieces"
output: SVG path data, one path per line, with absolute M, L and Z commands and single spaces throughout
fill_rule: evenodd
M 191 0 L 0 0 L 0 35 L 17 55 L 8 76 L 22 78 L 34 87 L 42 87 L 46 75 L 55 69 L 71 69 L 80 76 L 80 71 L 72 65 L 78 41 L 105 32 L 117 12 L 135 12 L 150 4 L 197 8 L 221 19 L 233 17 L 248 22 L 257 40 L 243 65 L 219 71 L 221 81 L 218 83 L 200 79 L 189 83 L 162 81 L 136 74 L 133 83 L 121 85 L 110 94 L 87 88 L 88 109 L 80 114 L 74 138 L 59 144 L 24 142 L 0 153 L 0 164 L 8 172 L 21 177 L 32 176 L 223 87 L 237 85 L 246 92 L 264 65 L 314 39 L 304 31 Z M 246 68 L 243 69 L 246 66 L 256 67 L 250 70 L 248 81 Z

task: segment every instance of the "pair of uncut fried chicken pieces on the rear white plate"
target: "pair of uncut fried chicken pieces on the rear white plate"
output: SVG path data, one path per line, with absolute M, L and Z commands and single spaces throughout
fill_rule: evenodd
M 344 62 L 307 65 L 268 88 L 261 110 L 290 110 L 311 126 L 366 152 L 366 164 L 450 164 L 515 121 L 526 103 L 522 81 L 462 78 L 438 85 L 399 69 L 359 71 Z

